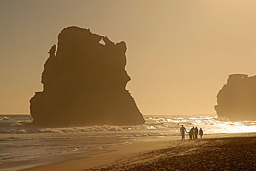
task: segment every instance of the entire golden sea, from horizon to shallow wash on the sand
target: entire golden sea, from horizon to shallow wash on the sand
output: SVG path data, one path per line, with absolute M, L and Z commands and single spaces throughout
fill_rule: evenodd
M 0 115 L 0 171 L 18 171 L 100 153 L 108 146 L 177 137 L 202 128 L 204 134 L 256 132 L 256 121 L 229 121 L 216 115 L 144 115 L 139 126 L 44 128 L 30 125 L 30 115 Z M 186 135 L 186 139 L 188 136 Z

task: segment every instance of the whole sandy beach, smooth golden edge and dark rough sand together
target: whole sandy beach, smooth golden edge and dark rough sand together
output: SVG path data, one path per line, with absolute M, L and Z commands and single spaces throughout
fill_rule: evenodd
M 187 138 L 187 137 L 186 137 Z M 212 134 L 112 146 L 89 158 L 26 171 L 255 171 L 256 133 Z

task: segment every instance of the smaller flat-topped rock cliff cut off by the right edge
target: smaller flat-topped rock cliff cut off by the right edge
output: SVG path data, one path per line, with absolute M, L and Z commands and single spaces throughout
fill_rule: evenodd
M 217 95 L 215 110 L 230 120 L 256 120 L 256 75 L 229 75 L 228 83 Z

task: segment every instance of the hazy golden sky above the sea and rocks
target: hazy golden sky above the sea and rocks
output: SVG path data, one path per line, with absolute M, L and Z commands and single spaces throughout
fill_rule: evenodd
M 127 43 L 127 89 L 145 114 L 214 114 L 228 75 L 256 75 L 256 0 L 0 0 L 0 113 L 29 113 L 57 35 Z

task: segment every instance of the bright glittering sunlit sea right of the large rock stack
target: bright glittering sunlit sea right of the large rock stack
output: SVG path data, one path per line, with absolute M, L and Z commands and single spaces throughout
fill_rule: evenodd
M 183 125 L 189 129 L 192 127 L 203 128 L 206 134 L 212 133 L 242 133 L 256 132 L 256 121 L 229 121 L 228 118 L 218 118 L 217 116 L 149 116 L 146 117 L 148 128 L 174 129 L 176 133 Z M 170 130 L 171 131 L 171 130 Z

